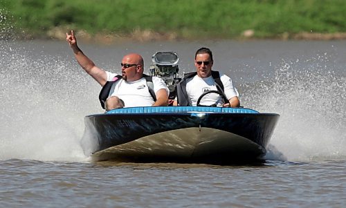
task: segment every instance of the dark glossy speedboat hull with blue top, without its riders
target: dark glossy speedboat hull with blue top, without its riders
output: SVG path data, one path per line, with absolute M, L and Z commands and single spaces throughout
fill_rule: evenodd
M 93 160 L 226 164 L 263 160 L 280 115 L 250 108 L 158 106 L 87 115 Z

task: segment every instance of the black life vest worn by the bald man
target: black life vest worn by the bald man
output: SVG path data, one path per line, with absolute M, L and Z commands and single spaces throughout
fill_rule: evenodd
M 152 77 L 148 75 L 143 75 L 145 80 L 147 81 L 147 86 L 149 89 L 150 95 L 152 95 L 152 98 L 154 102 L 156 102 L 156 95 L 154 92 L 154 84 L 152 82 Z M 109 97 L 109 92 L 111 91 L 111 86 L 118 82 L 120 79 L 122 79 L 121 75 L 116 75 L 116 79 L 113 81 L 107 81 L 106 84 L 102 87 L 102 90 L 100 91 L 100 95 L 98 95 L 98 99 L 100 100 L 102 108 L 104 108 L 104 104 L 106 103 L 107 98 Z

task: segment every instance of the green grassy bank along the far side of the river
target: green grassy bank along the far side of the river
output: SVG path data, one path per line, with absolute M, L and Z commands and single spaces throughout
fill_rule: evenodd
M 91 34 L 138 30 L 179 37 L 255 37 L 285 32 L 346 32 L 344 0 L 0 0 L 16 28 L 45 34 L 57 26 Z

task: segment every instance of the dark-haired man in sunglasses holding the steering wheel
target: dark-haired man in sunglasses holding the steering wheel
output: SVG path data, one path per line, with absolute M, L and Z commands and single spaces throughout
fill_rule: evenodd
M 213 62 L 212 51 L 209 48 L 197 50 L 194 56 L 197 72 L 185 74 L 177 84 L 175 106 L 197 106 L 201 95 L 203 95 L 199 103 L 201 106 L 240 106 L 239 93 L 233 86 L 232 79 L 212 70 Z M 217 93 L 208 93 L 208 91 L 217 91 Z

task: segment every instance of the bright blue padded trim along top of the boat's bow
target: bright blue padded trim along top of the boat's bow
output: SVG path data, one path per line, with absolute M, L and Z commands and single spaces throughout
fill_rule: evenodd
M 208 106 L 147 106 L 147 107 L 132 107 L 132 108 L 118 108 L 108 111 L 107 114 L 114 113 L 196 113 L 196 112 L 210 112 L 210 113 L 258 113 L 250 108 L 221 108 L 221 107 L 208 107 Z

